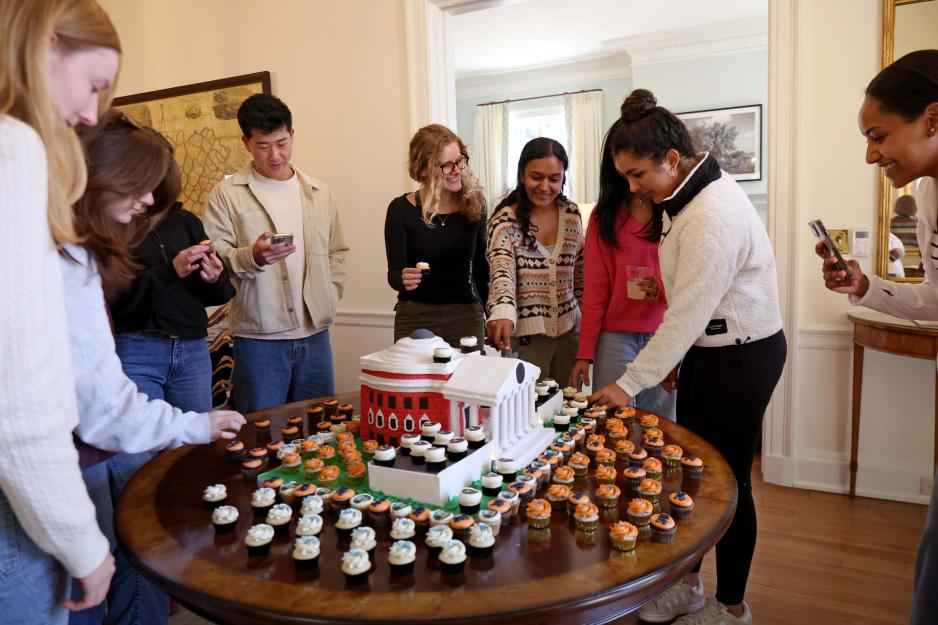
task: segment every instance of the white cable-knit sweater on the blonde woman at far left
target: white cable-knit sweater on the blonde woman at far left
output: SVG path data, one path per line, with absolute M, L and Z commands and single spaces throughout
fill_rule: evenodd
M 29 537 L 85 577 L 109 547 L 72 443 L 78 412 L 47 181 L 39 136 L 0 115 L 0 489 Z M 37 480 L 49 470 L 51 490 Z

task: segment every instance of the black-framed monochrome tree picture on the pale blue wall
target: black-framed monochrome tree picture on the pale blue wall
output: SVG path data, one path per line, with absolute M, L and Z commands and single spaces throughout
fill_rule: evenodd
M 678 113 L 694 148 L 713 154 L 735 180 L 762 179 L 762 105 Z

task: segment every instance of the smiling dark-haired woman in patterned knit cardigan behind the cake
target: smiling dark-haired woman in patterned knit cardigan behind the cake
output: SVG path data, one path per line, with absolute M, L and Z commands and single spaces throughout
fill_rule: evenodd
M 576 359 L 583 296 L 583 223 L 561 192 L 568 164 L 557 141 L 529 141 L 517 186 L 488 224 L 489 341 L 561 381 Z

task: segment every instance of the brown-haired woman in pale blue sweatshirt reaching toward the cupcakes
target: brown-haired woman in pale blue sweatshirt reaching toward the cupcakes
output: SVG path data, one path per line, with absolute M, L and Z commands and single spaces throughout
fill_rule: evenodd
M 169 598 L 134 571 L 117 547 L 117 499 L 151 452 L 233 438 L 245 421 L 233 411 L 187 412 L 148 399 L 124 374 L 105 294 L 134 279 L 132 246 L 145 240 L 151 224 L 159 223 L 174 206 L 180 174 L 169 142 L 116 110 L 102 115 L 81 137 L 88 157 L 88 189 L 75 204 L 75 226 L 82 242 L 67 245 L 61 262 L 78 399 L 75 432 L 88 493 L 117 563 L 108 592 L 108 622 L 159 625 L 168 618 Z M 213 262 L 213 254 L 200 254 L 199 271 L 207 281 L 217 281 L 220 263 Z M 106 458 L 102 451 L 123 453 Z M 104 618 L 101 606 L 73 614 L 70 622 L 98 625 Z

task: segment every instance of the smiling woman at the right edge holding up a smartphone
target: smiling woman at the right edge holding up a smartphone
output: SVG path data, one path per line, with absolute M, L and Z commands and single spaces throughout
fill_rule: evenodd
M 860 132 L 866 137 L 866 162 L 882 168 L 899 189 L 915 185 L 919 207 L 919 249 L 938 246 L 938 50 L 910 52 L 881 71 L 867 86 L 860 107 Z M 892 282 L 867 276 L 854 261 L 847 272 L 835 268 L 823 242 L 824 284 L 866 306 L 903 319 L 938 320 L 938 261 L 923 256 L 925 281 Z M 938 499 L 933 492 L 915 562 L 912 625 L 933 623 L 938 614 Z

